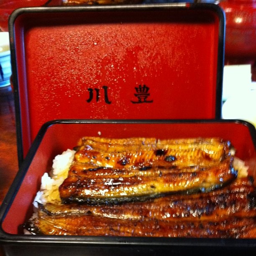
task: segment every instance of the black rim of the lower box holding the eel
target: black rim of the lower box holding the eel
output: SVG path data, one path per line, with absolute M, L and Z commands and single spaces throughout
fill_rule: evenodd
M 108 237 L 108 236 L 41 236 L 41 235 L 13 235 L 6 233 L 3 228 L 3 220 L 5 219 L 8 210 L 13 203 L 16 193 L 20 185 L 22 184 L 23 178 L 28 171 L 29 165 L 33 160 L 33 156 L 36 153 L 36 149 L 40 145 L 42 139 L 44 138 L 44 134 L 47 129 L 52 125 L 58 124 L 97 124 L 97 123 L 106 123 L 106 124 L 184 124 L 184 123 L 236 123 L 239 125 L 245 125 L 249 133 L 251 134 L 251 139 L 254 143 L 256 150 L 256 129 L 255 127 L 244 120 L 233 120 L 233 119 L 225 119 L 225 120 L 73 120 L 73 119 L 60 119 L 60 120 L 52 120 L 46 122 L 41 126 L 40 131 L 38 132 L 35 140 L 32 143 L 29 152 L 23 161 L 5 199 L 3 200 L 2 205 L 0 206 L 0 244 L 8 245 L 8 244 L 48 244 L 48 245 L 90 245 L 90 246 L 193 246 L 193 247 L 202 247 L 202 246 L 211 246 L 216 248 L 244 248 L 256 249 L 256 239 L 246 238 L 246 239 L 236 239 L 236 238 L 151 238 L 151 237 Z

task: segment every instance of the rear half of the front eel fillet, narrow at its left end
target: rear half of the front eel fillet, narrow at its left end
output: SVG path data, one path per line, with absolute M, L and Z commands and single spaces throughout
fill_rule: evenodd
M 120 205 L 84 205 L 48 203 L 39 205 L 47 215 L 86 215 L 117 219 L 139 220 L 208 220 L 217 221 L 228 216 L 255 217 L 256 191 L 247 178 L 239 179 L 229 186 L 208 193 L 191 195 L 170 195 L 146 202 L 125 203 Z

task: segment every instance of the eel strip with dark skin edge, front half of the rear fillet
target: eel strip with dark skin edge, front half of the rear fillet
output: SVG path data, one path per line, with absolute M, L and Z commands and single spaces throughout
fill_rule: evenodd
M 120 174 L 115 170 L 109 175 L 89 177 L 70 174 L 59 187 L 62 202 L 79 202 L 92 205 L 117 204 L 122 202 L 145 201 L 173 193 L 207 192 L 223 187 L 233 181 L 237 172 L 232 167 L 232 158 L 225 159 L 217 166 L 203 170 L 151 169 L 133 175 Z M 104 169 L 96 170 L 103 172 Z M 108 170 L 107 170 L 108 171 Z

